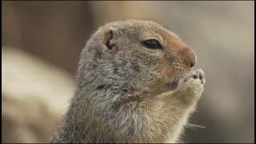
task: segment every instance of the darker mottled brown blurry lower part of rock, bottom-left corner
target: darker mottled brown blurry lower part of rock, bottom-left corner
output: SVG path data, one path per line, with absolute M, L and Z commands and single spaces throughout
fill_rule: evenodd
M 2 142 L 49 142 L 60 118 L 38 98 L 2 94 Z

